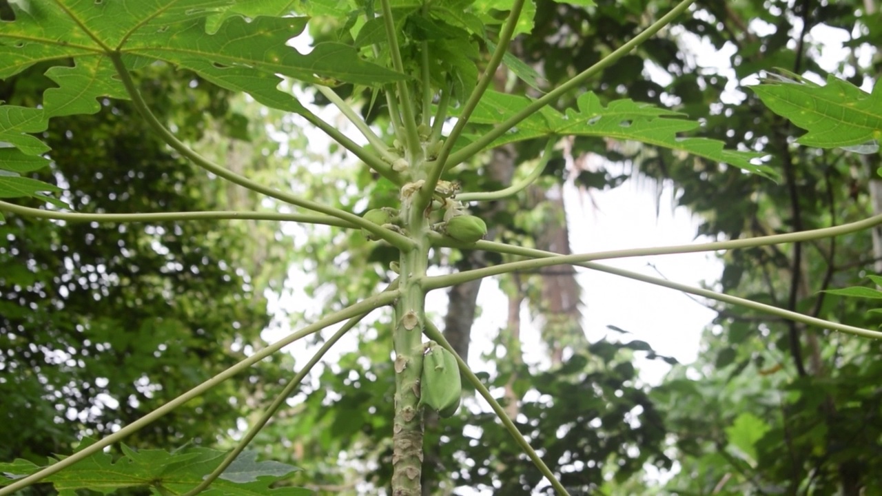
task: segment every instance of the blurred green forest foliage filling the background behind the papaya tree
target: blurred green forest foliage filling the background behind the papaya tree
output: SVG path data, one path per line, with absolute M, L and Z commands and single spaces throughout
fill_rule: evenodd
M 647 17 L 668 7 L 654 1 L 598 1 L 585 7 L 538 0 L 532 30 L 527 33 L 525 26 L 512 51 L 541 79 L 500 73 L 497 89 L 538 96 L 617 49 L 647 25 Z M 340 27 L 319 19 L 310 29 L 322 41 L 339 38 Z M 835 67 L 821 65 L 819 55 L 826 49 L 821 41 L 830 33 L 815 30 L 821 27 L 848 34 L 848 51 Z M 618 165 L 624 164 L 632 177 L 674 184 L 678 204 L 699 215 L 699 233 L 720 239 L 815 229 L 878 214 L 877 154 L 799 147 L 791 138 L 802 131 L 774 115 L 758 94 L 743 87 L 735 97 L 730 92 L 759 71 L 774 68 L 797 74 L 833 71 L 856 85 L 872 86 L 878 59 L 871 47 L 878 46 L 880 30 L 878 12 L 856 1 L 699 2 L 666 34 L 602 71 L 585 89 L 602 101 L 626 97 L 703 116 L 704 135 L 724 140 L 728 148 L 771 154 L 766 165 L 781 176 L 778 183 L 668 150 L 578 137 L 550 163 L 540 187 L 518 202 L 490 203 L 475 213 L 488 221 L 496 239 L 542 249 L 559 247 L 563 240 L 565 246 L 563 203 L 554 192 L 565 181 L 589 191 L 617 187 L 625 179 Z M 732 71 L 700 67 L 698 40 L 731 54 Z M 476 54 L 474 43 L 448 47 L 449 41 L 433 42 L 460 57 Z M 452 60 L 460 66 L 475 64 L 466 57 Z M 45 69 L 34 67 L 4 79 L 0 100 L 33 107 L 41 90 L 52 85 L 41 75 Z M 298 174 L 285 161 L 310 158 L 312 152 L 292 122 L 256 111 L 253 101 L 234 100 L 190 72 L 150 71 L 143 79 L 151 86 L 142 91 L 154 111 L 176 124 L 194 147 L 235 151 L 243 157 L 240 163 L 275 156 L 276 162 L 265 163 L 266 177 L 281 184 L 296 177 L 299 193 L 348 211 L 381 207 L 395 198 L 396 188 L 356 164 Z M 372 101 L 360 82 L 350 81 L 337 91 L 363 94 L 363 112 L 388 130 L 385 106 Z M 474 81 L 461 84 L 470 87 Z M 305 95 L 319 105 L 328 102 L 321 95 Z M 564 98 L 556 107 L 563 111 L 575 104 Z M 256 207 L 247 196 L 237 196 L 169 153 L 125 102 L 103 101 L 95 116 L 59 117 L 50 124 L 42 138 L 52 147 L 51 169 L 34 177 L 70 191 L 64 200 L 78 211 Z M 481 124 L 469 133 L 480 133 Z M 284 147 L 258 138 L 268 125 L 287 133 Z M 458 176 L 464 191 L 508 184 L 516 165 L 534 158 L 541 147 L 523 140 L 480 156 Z M 334 149 L 329 153 L 343 155 Z M 589 154 L 617 165 L 567 169 L 561 160 Z M 341 189 L 340 184 L 355 188 Z M 527 211 L 534 216 L 523 214 Z M 79 437 L 125 425 L 234 363 L 250 346 L 259 347 L 259 333 L 269 322 L 264 289 L 295 290 L 278 275 L 288 263 L 309 274 L 297 283 L 305 281 L 303 293 L 316 297 L 323 309 L 354 303 L 390 277 L 385 270 L 390 253 L 342 229 L 297 231 L 295 239 L 283 242 L 293 245 L 291 251 L 270 248 L 277 234 L 261 224 L 181 222 L 117 229 L 7 215 L 0 230 L 0 433 L 8 440 L 0 444 L 3 460 L 21 457 L 39 464 L 53 453 L 68 453 Z M 246 233 L 258 233 L 254 238 L 261 243 L 251 243 Z M 879 237 L 866 232 L 729 252 L 722 256 L 719 287 L 819 318 L 875 327 L 878 317 L 867 313 L 873 302 L 823 291 L 862 285 L 864 274 L 878 273 Z M 254 252 L 256 245 L 265 248 Z M 438 251 L 434 261 L 440 270 L 465 270 L 503 259 L 448 250 Z M 500 284 L 511 306 L 508 327 L 497 337 L 505 353 L 481 357 L 495 371 L 482 379 L 508 402 L 521 432 L 542 447 L 573 492 L 882 492 L 874 470 L 882 464 L 878 342 L 718 308 L 698 360 L 675 365 L 661 386 L 650 388 L 632 365 L 635 352 L 656 357 L 646 343 L 584 338 L 579 319 L 583 314 L 590 318 L 590 304 L 563 303 L 564 296 L 578 298 L 572 273 L 512 274 L 500 278 Z M 460 351 L 468 349 L 477 290 L 472 285 L 448 293 L 445 333 Z M 519 355 L 521 305 L 545 322 L 547 368 L 524 364 Z M 286 325 L 298 327 L 313 317 L 309 311 L 293 314 Z M 231 322 L 238 326 L 231 329 Z M 303 469 L 287 484 L 321 493 L 376 493 L 389 484 L 390 324 L 381 317 L 360 328 L 358 349 L 303 387 L 281 416 L 290 421 L 261 433 L 257 449 L 262 455 Z M 227 447 L 226 433 L 238 425 L 236 420 L 247 420 L 252 407 L 277 387 L 273 378 L 282 372 L 273 367 L 265 364 L 252 377 L 228 382 L 128 444 L 174 447 L 192 441 Z M 457 486 L 500 494 L 550 492 L 495 416 L 475 402 L 467 405 L 452 419 L 427 420 L 427 447 L 432 448 L 423 487 L 446 493 L 465 493 Z M 649 465 L 678 471 L 659 480 L 649 475 L 654 473 Z

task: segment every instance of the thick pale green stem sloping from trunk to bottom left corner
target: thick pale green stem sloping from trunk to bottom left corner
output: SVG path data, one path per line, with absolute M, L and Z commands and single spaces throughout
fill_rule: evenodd
M 393 283 L 394 284 L 394 283 Z M 42 469 L 34 474 L 31 474 L 27 477 L 23 477 L 19 480 L 16 480 L 11 485 L 7 485 L 3 488 L 0 488 L 0 496 L 6 496 L 9 494 L 13 494 L 14 492 L 19 491 L 27 487 L 28 485 L 35 484 L 40 482 L 42 479 L 49 477 L 53 474 L 58 473 L 61 470 L 70 467 L 76 462 L 80 462 L 91 455 L 101 452 L 102 449 L 108 447 L 118 441 L 123 440 L 126 436 L 129 436 L 139 430 L 143 429 L 147 425 L 152 424 L 159 418 L 167 415 L 169 412 L 175 410 L 179 406 L 183 405 L 186 402 L 191 401 L 193 398 L 202 395 L 212 387 L 215 387 L 224 380 L 228 380 L 229 378 L 244 372 L 251 365 L 257 364 L 260 360 L 263 360 L 265 357 L 269 357 L 276 351 L 288 346 L 288 344 L 297 341 L 305 336 L 310 334 L 314 334 L 325 327 L 333 326 L 337 322 L 340 322 L 345 319 L 351 319 L 356 315 L 361 315 L 365 312 L 370 312 L 371 310 L 378 308 L 380 306 L 384 306 L 386 304 L 391 304 L 395 301 L 399 296 L 398 289 L 393 289 L 394 286 L 390 286 L 389 289 L 386 289 L 384 292 L 375 295 L 373 297 L 367 298 L 357 304 L 353 304 L 348 306 L 347 308 L 340 310 L 339 312 L 333 312 L 331 315 L 328 315 L 324 319 L 320 319 L 317 322 L 310 324 L 310 326 L 303 327 L 300 331 L 288 335 L 288 337 L 282 338 L 277 342 L 274 342 L 272 345 L 266 347 L 265 349 L 261 349 L 257 351 L 254 355 L 251 355 L 248 358 L 243 359 L 238 364 L 235 364 L 229 367 L 227 370 L 215 375 L 212 379 L 206 380 L 202 384 L 199 384 L 197 387 L 193 387 L 190 391 L 187 391 L 183 395 L 179 395 L 174 400 L 162 405 L 156 410 L 146 414 L 144 417 L 138 418 L 138 420 L 132 422 L 130 425 L 126 425 L 122 429 L 113 434 L 110 434 L 108 437 L 96 441 L 93 445 L 83 448 L 82 450 L 70 455 L 58 462 L 55 462 L 45 469 Z

